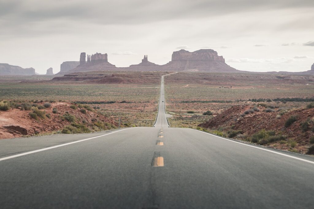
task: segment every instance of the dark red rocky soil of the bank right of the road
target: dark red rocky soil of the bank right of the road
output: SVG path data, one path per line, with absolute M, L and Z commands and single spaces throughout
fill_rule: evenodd
M 261 111 L 254 112 L 244 117 L 240 115 L 250 109 L 252 106 L 234 106 L 228 110 L 225 110 L 221 114 L 212 118 L 206 123 L 200 124 L 199 126 L 209 129 L 217 129 L 219 127 L 227 127 L 227 130 L 242 130 L 244 133 L 248 134 L 248 136 L 262 130 L 273 130 L 276 133 L 281 133 L 285 135 L 289 139 L 294 139 L 297 142 L 295 149 L 301 153 L 306 153 L 307 148 L 309 147 L 309 139 L 314 133 L 311 131 L 314 123 L 314 108 L 306 109 L 306 108 L 298 108 L 290 110 L 282 115 L 280 118 L 276 118 L 278 112 L 263 112 L 263 107 L 258 107 Z M 276 110 L 276 109 L 275 109 Z M 285 128 L 285 121 L 291 116 L 297 116 L 297 121 L 295 121 L 292 125 Z M 310 119 L 310 127 L 307 131 L 302 131 L 300 127 L 300 123 Z M 290 147 L 287 144 L 279 144 L 273 143 L 270 147 L 276 147 L 283 150 L 288 150 Z

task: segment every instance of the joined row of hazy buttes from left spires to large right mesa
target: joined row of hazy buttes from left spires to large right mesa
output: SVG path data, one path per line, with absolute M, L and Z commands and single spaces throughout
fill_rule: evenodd
M 165 65 L 157 65 L 148 61 L 148 56 L 144 55 L 142 62 L 129 67 L 116 67 L 108 62 L 108 55 L 96 53 L 87 55 L 80 54 L 80 64 L 66 73 L 88 72 L 102 70 L 122 70 L 122 71 L 184 71 L 184 72 L 240 72 L 225 63 L 223 56 L 218 56 L 217 51 L 212 49 L 200 49 L 197 51 L 174 51 L 171 61 Z M 59 72 L 65 74 L 65 72 Z

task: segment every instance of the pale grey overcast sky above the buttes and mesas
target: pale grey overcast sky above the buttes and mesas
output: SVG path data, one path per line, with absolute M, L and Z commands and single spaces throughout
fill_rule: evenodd
M 208 48 L 239 70 L 306 71 L 313 11 L 313 0 L 0 0 L 0 63 L 57 73 L 80 52 L 127 67 Z

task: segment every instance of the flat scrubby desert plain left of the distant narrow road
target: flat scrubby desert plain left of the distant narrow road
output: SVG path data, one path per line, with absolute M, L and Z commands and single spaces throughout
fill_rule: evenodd
M 157 115 L 158 84 L 0 83 L 0 100 L 88 102 L 89 106 L 130 126 L 152 126 Z M 114 102 L 106 104 L 106 102 Z M 121 103 L 122 102 L 122 103 Z M 100 103 L 100 104 L 97 104 Z

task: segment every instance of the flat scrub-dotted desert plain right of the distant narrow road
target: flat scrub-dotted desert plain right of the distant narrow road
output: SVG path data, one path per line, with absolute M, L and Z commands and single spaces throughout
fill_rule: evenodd
M 171 126 L 196 127 L 212 116 L 249 99 L 314 97 L 314 82 L 306 76 L 273 76 L 263 74 L 177 73 L 165 77 L 167 111 L 174 115 Z M 308 102 L 269 102 L 279 107 L 301 107 Z M 187 111 L 195 111 L 189 114 Z

